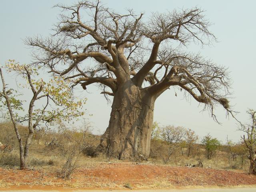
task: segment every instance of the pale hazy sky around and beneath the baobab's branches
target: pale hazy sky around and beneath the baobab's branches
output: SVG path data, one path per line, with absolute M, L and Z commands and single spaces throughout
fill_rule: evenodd
M 38 34 L 47 37 L 57 21 L 60 10 L 52 8 L 57 3 L 72 4 L 74 0 L 1 0 L 0 1 L 0 65 L 8 59 L 15 59 L 21 64 L 29 64 L 32 60 L 31 49 L 25 46 L 22 39 Z M 256 110 L 256 23 L 254 0 L 102 0 L 108 7 L 124 12 L 126 8 L 133 8 L 138 14 L 144 12 L 144 17 L 152 12 L 172 11 L 174 8 L 191 8 L 198 6 L 206 10 L 205 15 L 214 23 L 210 30 L 218 38 L 214 46 L 190 48 L 189 51 L 200 52 L 202 56 L 211 58 L 217 64 L 227 66 L 230 70 L 233 84 L 233 98 L 230 104 L 234 110 L 240 112 L 237 118 L 248 122 L 246 110 Z M 7 74 L 5 74 L 7 76 Z M 16 86 L 12 77 L 6 77 L 9 84 Z M 80 88 L 79 94 L 88 98 L 85 108 L 94 127 L 94 133 L 102 134 L 108 126 L 111 106 L 107 105 L 101 91 L 93 85 L 88 86 L 87 92 Z M 223 142 L 226 136 L 238 141 L 241 132 L 236 131 L 238 125 L 231 117 L 226 118 L 224 110 L 216 109 L 217 124 L 207 111 L 201 112 L 202 106 L 198 102 L 183 99 L 183 94 L 174 90 L 164 92 L 156 100 L 154 121 L 164 125 L 184 126 L 194 130 L 200 138 L 210 133 Z

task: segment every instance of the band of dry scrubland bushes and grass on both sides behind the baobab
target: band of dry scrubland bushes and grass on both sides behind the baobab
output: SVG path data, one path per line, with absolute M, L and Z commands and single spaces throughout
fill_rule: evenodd
M 26 126 L 20 125 L 18 128 L 22 137 L 26 138 Z M 0 166 L 18 168 L 19 144 L 12 123 L 2 122 L 0 132 L 0 141 L 4 146 L 8 146 L 0 152 Z M 90 126 L 86 123 L 77 129 L 66 128 L 62 124 L 57 130 L 36 130 L 28 165 L 30 169 L 54 167 L 56 174 L 66 177 L 68 173 L 63 169 L 65 166 L 67 170 L 72 171 L 91 162 L 118 161 L 116 156 L 111 154 L 111 150 L 99 151 L 99 143 L 100 136 L 92 134 Z M 174 126 L 160 128 L 156 123 L 151 139 L 150 157 L 147 160 L 137 157 L 131 161 L 172 166 L 196 166 L 201 162 L 204 167 L 245 172 L 248 172 L 250 163 L 242 141 L 234 143 L 228 140 L 222 143 L 210 134 L 199 140 L 198 135 L 190 129 Z

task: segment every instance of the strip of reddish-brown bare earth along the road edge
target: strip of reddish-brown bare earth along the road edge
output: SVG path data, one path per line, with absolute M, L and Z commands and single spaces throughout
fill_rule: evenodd
M 70 180 L 57 177 L 56 168 L 18 170 L 0 168 L 0 189 L 80 188 L 134 189 L 176 188 L 182 186 L 256 185 L 256 176 L 211 168 L 172 167 L 151 164 L 102 163 L 78 168 Z

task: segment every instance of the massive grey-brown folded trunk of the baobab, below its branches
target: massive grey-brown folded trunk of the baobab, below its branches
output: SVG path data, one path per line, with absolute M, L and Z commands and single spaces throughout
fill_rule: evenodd
M 128 80 L 114 94 L 109 126 L 100 146 L 119 159 L 147 158 L 153 124 L 155 96 Z

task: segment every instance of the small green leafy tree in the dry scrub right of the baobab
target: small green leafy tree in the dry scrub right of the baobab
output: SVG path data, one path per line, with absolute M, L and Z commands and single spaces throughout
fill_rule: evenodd
M 211 159 L 212 154 L 214 154 L 220 146 L 220 141 L 217 138 L 212 138 L 210 134 L 207 134 L 202 139 L 202 144 L 205 146 L 206 149 L 206 158 Z

